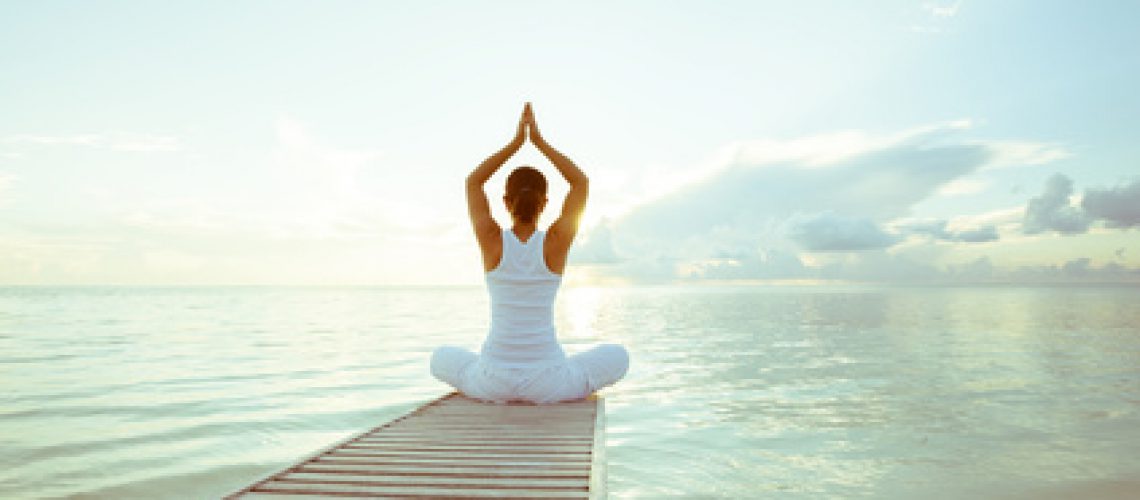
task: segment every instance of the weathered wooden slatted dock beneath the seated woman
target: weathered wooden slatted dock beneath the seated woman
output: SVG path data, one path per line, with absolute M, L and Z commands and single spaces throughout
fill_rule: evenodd
M 605 404 L 451 393 L 227 498 L 605 498 Z

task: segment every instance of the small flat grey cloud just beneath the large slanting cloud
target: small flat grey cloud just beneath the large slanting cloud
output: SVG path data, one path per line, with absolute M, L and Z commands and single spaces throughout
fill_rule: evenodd
M 856 252 L 886 248 L 898 241 L 870 219 L 822 213 L 792 218 L 788 236 L 809 252 Z

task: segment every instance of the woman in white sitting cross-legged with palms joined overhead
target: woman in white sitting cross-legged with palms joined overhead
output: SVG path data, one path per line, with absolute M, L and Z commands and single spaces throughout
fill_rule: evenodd
M 511 213 L 511 228 L 504 230 L 491 218 L 483 185 L 522 147 L 528 133 L 570 183 L 570 192 L 559 219 L 540 231 L 546 178 L 530 166 L 515 169 L 503 197 Z M 586 174 L 543 139 L 527 103 L 514 139 L 467 175 L 467 212 L 491 295 L 490 331 L 478 355 L 461 347 L 437 349 L 431 359 L 435 378 L 481 400 L 554 403 L 583 399 L 626 374 L 629 355 L 620 345 L 598 345 L 567 356 L 554 334 L 554 296 L 588 189 Z

